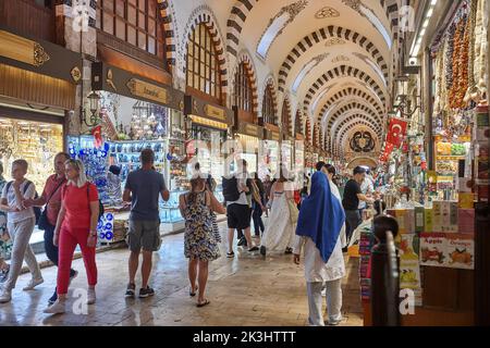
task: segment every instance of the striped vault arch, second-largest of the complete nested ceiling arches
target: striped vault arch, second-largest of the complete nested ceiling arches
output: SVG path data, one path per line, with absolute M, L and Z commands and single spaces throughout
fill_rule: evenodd
M 387 104 L 387 98 L 384 97 L 383 89 L 381 89 L 378 83 L 370 75 L 350 65 L 340 65 L 321 75 L 308 89 L 304 101 L 305 112 L 308 110 L 315 95 L 318 92 L 318 90 L 320 90 L 322 86 L 327 85 L 331 80 L 334 80 L 335 78 L 341 78 L 343 76 L 355 77 L 358 80 L 366 83 L 375 90 L 375 92 L 381 99 L 381 102 L 383 104 Z

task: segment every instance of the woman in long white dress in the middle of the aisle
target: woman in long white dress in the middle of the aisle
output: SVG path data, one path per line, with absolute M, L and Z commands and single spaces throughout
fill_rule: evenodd
M 270 214 L 269 221 L 264 232 L 260 253 L 279 251 L 292 253 L 294 241 L 295 224 L 290 219 L 290 207 L 287 201 L 294 201 L 293 183 L 285 178 L 283 171 L 280 171 L 279 179 L 272 185 L 270 190 Z

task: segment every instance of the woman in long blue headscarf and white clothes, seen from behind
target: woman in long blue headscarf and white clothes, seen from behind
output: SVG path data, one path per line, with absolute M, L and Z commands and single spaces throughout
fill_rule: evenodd
M 294 262 L 299 264 L 304 248 L 309 324 L 324 325 L 321 314 L 321 288 L 324 282 L 329 325 L 338 325 L 342 321 L 341 284 L 345 276 L 341 246 L 345 213 L 324 173 L 317 172 L 313 175 L 310 192 L 299 211 L 293 250 Z

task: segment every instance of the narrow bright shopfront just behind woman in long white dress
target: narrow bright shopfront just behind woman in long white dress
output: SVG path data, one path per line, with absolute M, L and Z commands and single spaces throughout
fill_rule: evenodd
M 268 127 L 270 127 L 268 125 Z M 279 178 L 281 134 L 278 129 L 266 129 L 266 137 L 259 148 L 259 177 L 266 175 Z

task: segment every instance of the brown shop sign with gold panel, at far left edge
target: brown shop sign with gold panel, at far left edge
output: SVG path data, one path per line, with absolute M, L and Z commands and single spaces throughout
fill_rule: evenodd
M 0 25 L 0 63 L 77 84 L 82 55 Z

